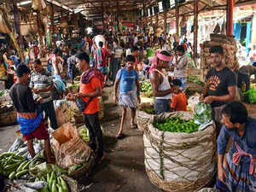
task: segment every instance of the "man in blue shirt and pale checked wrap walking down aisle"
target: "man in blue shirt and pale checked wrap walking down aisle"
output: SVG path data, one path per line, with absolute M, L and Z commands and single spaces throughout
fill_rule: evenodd
M 134 122 L 136 115 L 137 102 L 141 102 L 140 99 L 140 84 L 139 76 L 135 70 L 135 57 L 133 55 L 126 56 L 126 65 L 124 68 L 120 69 L 116 75 L 116 79 L 113 85 L 113 101 L 117 102 L 119 100 L 119 105 L 123 108 L 121 125 L 117 139 L 122 139 L 125 137 L 123 134 L 124 122 L 127 109 L 131 108 L 131 128 L 136 129 L 137 125 Z M 119 87 L 119 98 L 117 96 L 117 90 Z

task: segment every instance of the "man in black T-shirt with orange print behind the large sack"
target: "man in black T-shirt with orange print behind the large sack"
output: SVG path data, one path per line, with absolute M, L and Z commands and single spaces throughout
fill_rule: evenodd
M 213 46 L 210 49 L 212 57 L 212 69 L 207 73 L 206 87 L 201 101 L 211 104 L 213 119 L 217 125 L 217 131 L 221 128 L 221 111 L 225 104 L 235 101 L 236 76 L 224 63 L 224 51 L 221 46 Z

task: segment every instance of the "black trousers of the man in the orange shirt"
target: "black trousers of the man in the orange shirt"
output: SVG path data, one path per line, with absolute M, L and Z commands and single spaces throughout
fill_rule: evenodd
M 89 131 L 90 137 L 90 148 L 92 150 L 96 149 L 96 139 L 98 142 L 98 150 L 97 155 L 103 155 L 103 136 L 102 136 L 102 129 L 98 118 L 98 113 L 94 114 L 85 114 L 84 113 L 84 124 L 86 125 Z

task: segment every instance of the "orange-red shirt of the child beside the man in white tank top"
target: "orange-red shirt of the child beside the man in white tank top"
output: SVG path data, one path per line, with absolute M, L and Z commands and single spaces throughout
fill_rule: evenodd
M 174 111 L 187 111 L 187 103 L 187 97 L 184 92 L 172 95 L 171 108 L 173 108 Z

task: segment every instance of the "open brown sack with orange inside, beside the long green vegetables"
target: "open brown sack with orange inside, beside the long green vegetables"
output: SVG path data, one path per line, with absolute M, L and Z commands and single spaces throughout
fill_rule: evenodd
M 70 166 L 83 164 L 86 169 L 89 168 L 92 151 L 71 123 L 61 125 L 53 132 L 53 148 L 58 166 L 67 169 Z

